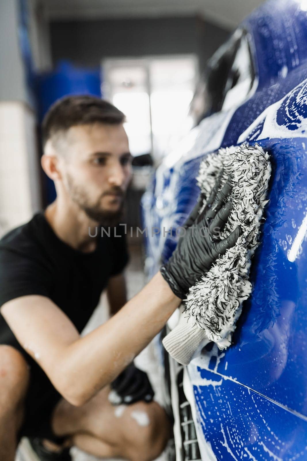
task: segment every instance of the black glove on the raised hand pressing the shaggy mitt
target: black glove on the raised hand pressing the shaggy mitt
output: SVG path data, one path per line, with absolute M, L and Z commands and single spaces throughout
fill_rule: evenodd
M 221 177 L 222 172 L 201 214 L 199 211 L 203 207 L 203 196 L 200 196 L 185 222 L 186 234 L 180 237 L 174 253 L 160 269 L 171 290 L 181 299 L 184 299 L 189 288 L 209 271 L 218 256 L 233 247 L 241 235 L 241 228 L 238 226 L 226 239 L 220 240 L 220 232 L 232 208 L 231 201 L 227 201 L 227 196 L 231 192 L 230 180 L 218 191 Z

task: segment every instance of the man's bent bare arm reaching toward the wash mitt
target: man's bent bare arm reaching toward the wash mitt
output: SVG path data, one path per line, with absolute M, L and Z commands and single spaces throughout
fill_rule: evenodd
M 116 315 L 85 337 L 44 296 L 8 301 L 1 313 L 61 395 L 82 405 L 145 348 L 179 304 L 158 272 Z

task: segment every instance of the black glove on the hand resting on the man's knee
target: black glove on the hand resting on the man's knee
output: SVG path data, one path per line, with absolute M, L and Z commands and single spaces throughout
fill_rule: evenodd
M 109 397 L 111 403 L 116 405 L 135 403 L 139 400 L 151 402 L 155 395 L 147 374 L 139 370 L 133 363 L 128 365 L 111 383 L 111 389 L 119 397 L 116 401 Z

